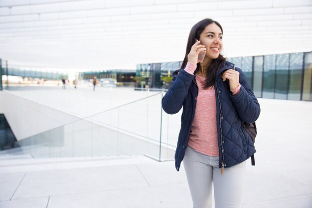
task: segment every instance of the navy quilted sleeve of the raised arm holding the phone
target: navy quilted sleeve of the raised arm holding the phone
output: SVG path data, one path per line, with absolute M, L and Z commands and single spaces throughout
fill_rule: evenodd
M 171 86 L 161 101 L 162 109 L 167 114 L 175 114 L 182 108 L 184 98 L 193 79 L 194 75 L 187 73 L 184 69 L 173 77 Z

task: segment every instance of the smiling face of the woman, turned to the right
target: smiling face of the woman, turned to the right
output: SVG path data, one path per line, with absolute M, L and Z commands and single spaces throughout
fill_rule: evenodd
M 206 58 L 216 59 L 223 47 L 221 28 L 215 24 L 208 24 L 201 32 L 200 44 L 206 47 Z

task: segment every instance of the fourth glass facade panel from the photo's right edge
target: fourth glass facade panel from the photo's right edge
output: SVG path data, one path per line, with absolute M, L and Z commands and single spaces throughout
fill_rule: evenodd
M 263 98 L 274 98 L 276 55 L 264 56 Z

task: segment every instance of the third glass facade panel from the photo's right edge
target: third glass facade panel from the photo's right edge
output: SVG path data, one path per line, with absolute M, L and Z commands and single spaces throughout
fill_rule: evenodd
M 278 54 L 276 66 L 276 99 L 287 99 L 288 79 L 289 79 L 289 57 L 290 54 Z

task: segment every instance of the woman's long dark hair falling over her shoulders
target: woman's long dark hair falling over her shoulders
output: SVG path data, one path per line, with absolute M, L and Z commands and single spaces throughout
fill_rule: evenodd
M 188 40 L 187 40 L 187 45 L 186 45 L 186 51 L 185 51 L 185 57 L 184 60 L 182 62 L 182 65 L 180 67 L 181 69 L 184 69 L 187 63 L 187 55 L 189 54 L 189 52 L 191 51 L 191 47 L 192 45 L 194 45 L 194 43 L 196 42 L 195 39 L 199 40 L 199 36 L 201 34 L 201 32 L 205 29 L 205 27 L 209 24 L 215 23 L 216 25 L 218 25 L 223 33 L 223 29 L 222 26 L 220 25 L 219 22 L 214 21 L 212 19 L 203 19 L 199 22 L 197 22 L 191 29 L 191 31 L 189 32 L 188 35 Z M 208 66 L 207 70 L 209 71 L 209 73 L 207 73 L 206 75 L 206 80 L 204 81 L 204 89 L 214 86 L 215 83 L 215 77 L 217 75 L 218 70 L 220 69 L 220 67 L 224 64 L 224 61 L 226 59 L 219 54 L 218 58 L 213 59 L 211 61 L 211 64 Z M 197 68 L 199 67 L 199 63 L 197 63 Z

